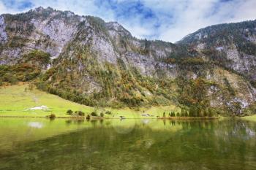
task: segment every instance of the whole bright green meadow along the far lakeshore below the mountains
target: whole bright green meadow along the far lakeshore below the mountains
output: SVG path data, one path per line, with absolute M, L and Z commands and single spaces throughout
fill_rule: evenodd
M 48 110 L 28 110 L 39 106 L 46 106 Z M 108 118 L 119 118 L 120 116 L 126 118 L 156 118 L 157 116 L 162 117 L 163 112 L 166 112 L 166 114 L 170 111 L 180 112 L 180 108 L 174 105 L 138 109 L 94 108 L 67 101 L 59 96 L 37 89 L 29 90 L 27 83 L 0 87 L 0 116 L 2 117 L 45 117 L 50 114 L 55 114 L 56 117 L 71 117 L 66 114 L 68 109 L 72 109 L 72 111 L 80 110 L 85 112 L 86 115 L 93 111 L 96 111 L 98 115 L 100 112 L 110 111 L 112 112 L 111 115 L 105 114 L 105 117 Z M 153 115 L 153 117 L 143 117 L 141 115 L 143 113 Z

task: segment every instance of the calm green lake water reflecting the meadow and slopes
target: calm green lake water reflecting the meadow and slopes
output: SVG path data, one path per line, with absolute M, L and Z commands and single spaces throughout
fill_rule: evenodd
M 0 119 L 0 169 L 256 169 L 241 120 Z

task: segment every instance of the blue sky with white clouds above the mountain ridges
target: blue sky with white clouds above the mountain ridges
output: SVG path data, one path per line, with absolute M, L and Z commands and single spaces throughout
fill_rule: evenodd
M 0 0 L 0 13 L 36 7 L 117 21 L 140 39 L 177 42 L 199 28 L 256 19 L 256 0 Z

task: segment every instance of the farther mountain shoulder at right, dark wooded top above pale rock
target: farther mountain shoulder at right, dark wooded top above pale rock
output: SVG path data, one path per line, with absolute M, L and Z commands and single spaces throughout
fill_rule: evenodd
M 256 20 L 209 26 L 189 34 L 179 44 L 189 45 L 201 55 L 256 80 Z

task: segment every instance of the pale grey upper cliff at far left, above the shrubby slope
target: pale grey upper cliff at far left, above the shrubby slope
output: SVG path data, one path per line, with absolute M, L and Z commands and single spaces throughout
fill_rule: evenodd
M 57 58 L 76 33 L 80 20 L 81 17 L 72 12 L 42 7 L 21 15 L 1 15 L 1 63 L 15 64 L 20 56 L 33 49 L 45 51 L 52 58 Z

